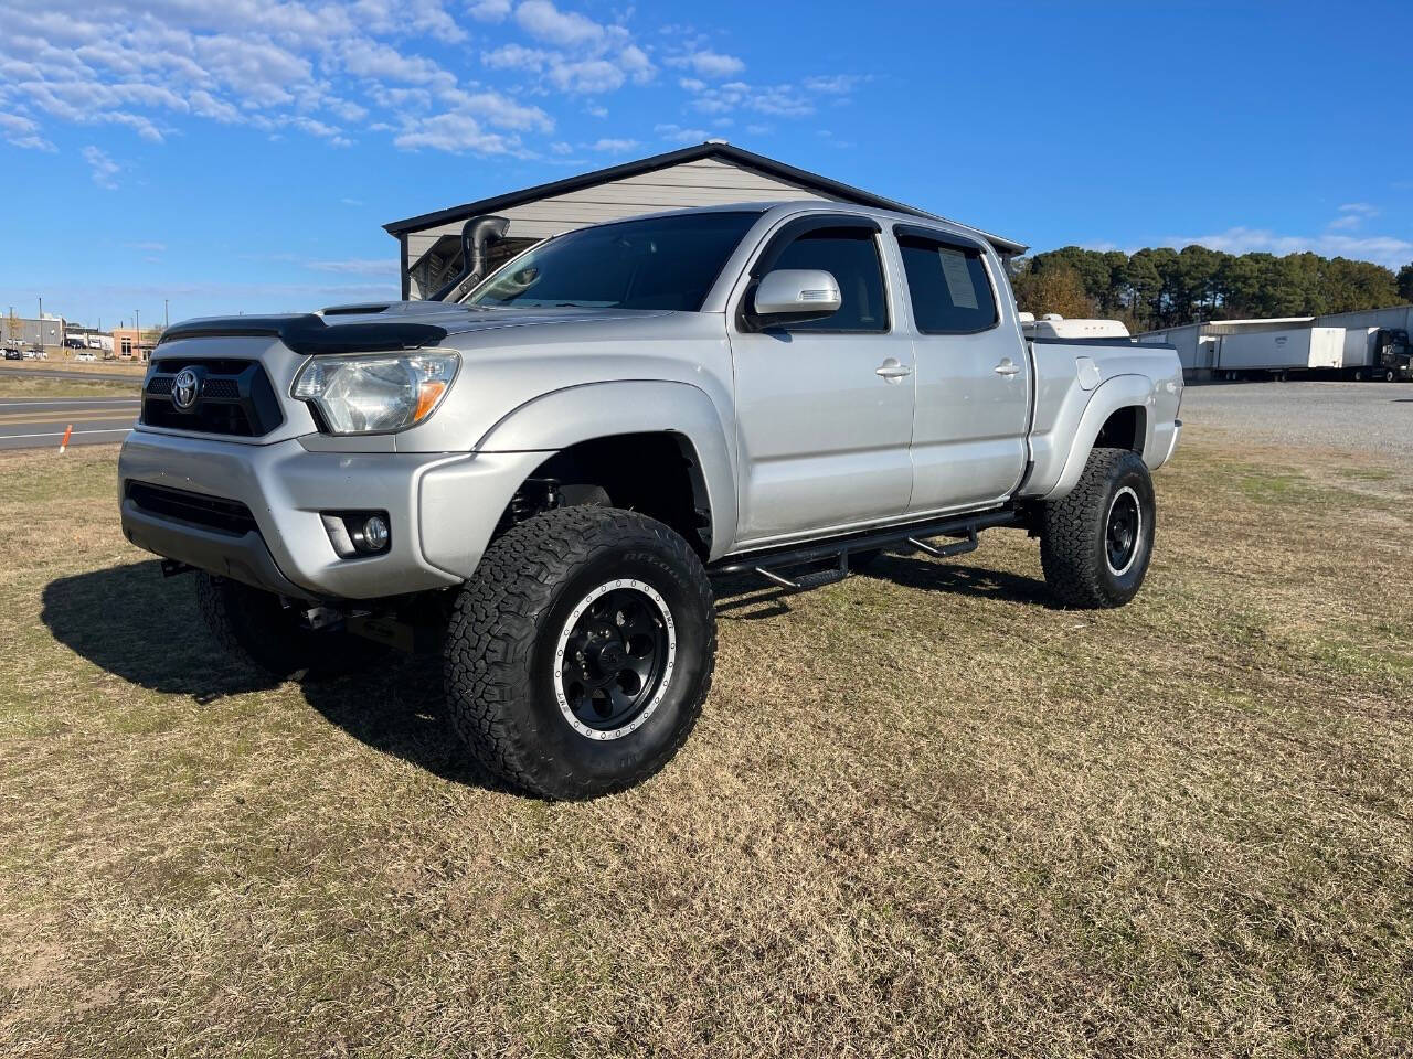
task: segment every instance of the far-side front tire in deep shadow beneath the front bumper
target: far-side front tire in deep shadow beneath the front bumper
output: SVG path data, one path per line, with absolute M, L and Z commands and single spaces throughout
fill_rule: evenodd
M 342 630 L 309 630 L 280 597 L 212 573 L 196 573 L 196 607 L 226 651 L 278 676 L 338 676 L 373 662 L 383 650 Z

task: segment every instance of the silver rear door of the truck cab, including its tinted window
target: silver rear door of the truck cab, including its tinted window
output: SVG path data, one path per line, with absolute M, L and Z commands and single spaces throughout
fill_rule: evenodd
M 995 256 L 964 236 L 899 225 L 913 323 L 911 514 L 1003 500 L 1026 467 L 1029 357 Z M 1007 308 L 1003 308 L 1007 306 Z

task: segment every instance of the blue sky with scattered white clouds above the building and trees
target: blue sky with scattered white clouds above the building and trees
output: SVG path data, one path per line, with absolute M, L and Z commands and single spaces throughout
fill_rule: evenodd
M 0 0 L 0 311 L 391 295 L 380 225 L 709 136 L 1036 249 L 1397 267 L 1410 31 L 1406 3 Z

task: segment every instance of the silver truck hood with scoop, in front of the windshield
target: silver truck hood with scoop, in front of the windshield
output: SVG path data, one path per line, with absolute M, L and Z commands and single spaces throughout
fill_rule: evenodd
M 174 323 L 158 346 L 189 337 L 268 336 L 295 353 L 377 353 L 435 346 L 448 335 L 664 316 L 667 311 L 526 308 L 480 309 L 442 302 L 336 305 L 318 313 L 201 316 Z

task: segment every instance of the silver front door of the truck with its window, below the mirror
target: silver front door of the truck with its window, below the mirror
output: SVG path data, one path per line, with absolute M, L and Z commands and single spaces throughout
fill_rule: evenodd
M 732 312 L 738 545 L 901 515 L 913 486 L 913 347 L 893 326 L 877 226 L 810 215 L 767 240 L 752 277 L 822 268 L 834 315 L 750 330 Z M 743 298 L 750 298 L 749 285 Z

